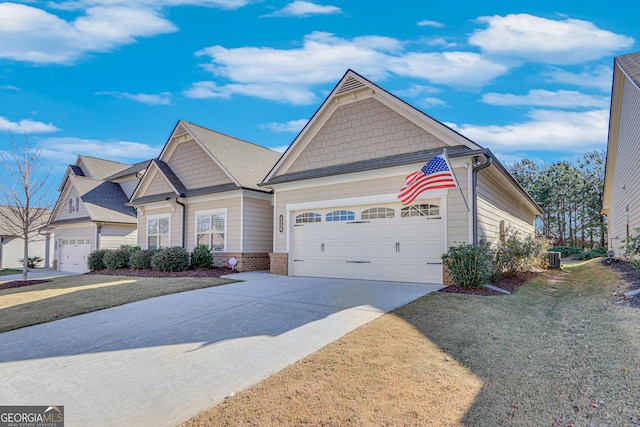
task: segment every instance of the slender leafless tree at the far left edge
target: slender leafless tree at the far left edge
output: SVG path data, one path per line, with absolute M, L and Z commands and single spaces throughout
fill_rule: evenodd
M 29 242 L 38 238 L 38 229 L 47 224 L 52 206 L 52 191 L 48 178 L 51 168 L 43 170 L 39 148 L 29 147 L 27 133 L 24 143 L 16 143 L 9 133 L 11 150 L 0 152 L 1 167 L 9 179 L 2 180 L 0 190 L 2 204 L 0 220 L 13 235 L 24 239 L 22 280 L 27 279 L 29 267 Z

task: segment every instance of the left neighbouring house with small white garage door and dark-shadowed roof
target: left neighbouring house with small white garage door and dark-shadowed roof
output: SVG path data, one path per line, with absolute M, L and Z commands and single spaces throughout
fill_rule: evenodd
M 49 222 L 59 271 L 84 273 L 91 252 L 137 243 L 136 210 L 127 203 L 148 164 L 78 156 L 67 168 Z

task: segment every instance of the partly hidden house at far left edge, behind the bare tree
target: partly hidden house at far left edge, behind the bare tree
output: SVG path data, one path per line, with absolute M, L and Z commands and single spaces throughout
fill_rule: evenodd
M 24 238 L 21 231 L 7 218 L 14 218 L 12 208 L 0 206 L 0 268 L 22 268 L 24 259 Z M 33 225 L 33 232 L 29 236 L 29 258 L 40 257 L 39 267 L 50 266 L 50 255 L 53 240 L 47 221 L 50 213 L 42 216 L 38 224 Z M 39 216 L 39 214 L 38 214 Z

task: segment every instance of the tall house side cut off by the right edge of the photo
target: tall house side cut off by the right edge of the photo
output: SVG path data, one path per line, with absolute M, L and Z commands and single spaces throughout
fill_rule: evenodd
M 624 255 L 624 239 L 640 227 L 640 52 L 613 62 L 613 89 L 602 213 L 609 248 Z

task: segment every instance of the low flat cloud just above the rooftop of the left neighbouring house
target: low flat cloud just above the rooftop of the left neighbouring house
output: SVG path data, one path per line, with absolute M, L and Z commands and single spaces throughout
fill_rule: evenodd
M 157 157 L 158 147 L 130 141 L 100 141 L 76 137 L 41 138 L 38 140 L 42 158 L 54 164 L 72 164 L 80 154 L 96 155 L 100 158 L 133 163 Z

